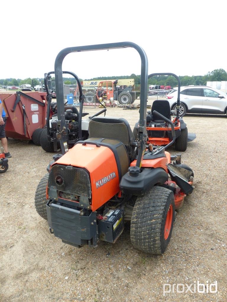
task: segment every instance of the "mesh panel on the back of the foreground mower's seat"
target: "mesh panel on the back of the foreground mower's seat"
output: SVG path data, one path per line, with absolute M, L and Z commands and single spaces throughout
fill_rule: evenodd
M 129 145 L 129 133 L 124 123 L 109 124 L 91 120 L 89 123 L 89 135 L 90 137 L 119 140 L 124 145 Z

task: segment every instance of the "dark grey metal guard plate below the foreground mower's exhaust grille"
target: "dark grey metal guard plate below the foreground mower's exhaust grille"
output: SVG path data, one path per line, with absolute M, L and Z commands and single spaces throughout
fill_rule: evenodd
M 81 216 L 81 211 L 50 202 L 46 206 L 48 223 L 54 236 L 73 246 L 97 246 L 96 213 Z

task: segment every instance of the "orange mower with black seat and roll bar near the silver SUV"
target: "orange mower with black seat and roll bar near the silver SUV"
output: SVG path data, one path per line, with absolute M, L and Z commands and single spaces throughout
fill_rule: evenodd
M 175 149 L 177 151 L 186 151 L 188 142 L 191 142 L 196 138 L 195 133 L 188 133 L 187 125 L 183 121 L 183 116 L 179 118 L 179 106 L 180 106 L 180 79 L 174 73 L 152 73 L 148 76 L 148 79 L 152 76 L 174 76 L 178 81 L 178 95 L 176 112 L 170 111 L 169 102 L 166 100 L 156 100 L 153 102 L 151 111 L 148 111 L 146 116 L 146 130 L 148 136 L 148 143 L 153 146 L 170 146 L 170 142 L 173 141 L 171 130 L 171 115 L 176 114 L 176 117 L 172 119 L 174 123 L 175 131 Z M 166 119 L 160 118 L 154 111 L 162 114 Z M 133 134 L 138 137 L 139 122 L 135 124 Z M 172 145 L 172 144 L 171 144 Z

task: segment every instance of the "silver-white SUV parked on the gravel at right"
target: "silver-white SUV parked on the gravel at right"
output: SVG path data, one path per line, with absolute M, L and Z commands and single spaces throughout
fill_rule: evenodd
M 166 99 L 171 110 L 176 110 L 177 87 L 166 95 Z M 182 86 L 179 116 L 185 113 L 227 114 L 227 95 L 208 86 Z

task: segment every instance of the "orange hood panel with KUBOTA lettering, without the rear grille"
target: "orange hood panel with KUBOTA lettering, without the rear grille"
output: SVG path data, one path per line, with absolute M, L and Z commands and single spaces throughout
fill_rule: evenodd
M 85 146 L 76 144 L 54 164 L 85 168 L 90 173 L 92 211 L 97 210 L 120 190 L 116 160 L 107 147 L 97 147 L 89 143 Z

